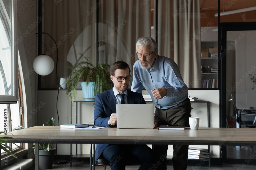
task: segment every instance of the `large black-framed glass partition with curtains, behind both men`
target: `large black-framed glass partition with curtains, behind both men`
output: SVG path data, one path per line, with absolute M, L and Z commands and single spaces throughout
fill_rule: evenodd
M 44 18 L 38 20 L 43 22 L 43 32 L 52 35 L 57 42 L 59 80 L 57 82 L 55 71 L 40 76 L 40 88 L 58 88 L 60 79 L 70 74 L 70 70 L 64 68 L 72 67 L 81 60 L 79 53 L 95 65 L 98 61 L 110 65 L 115 61 L 125 61 L 132 68 L 138 60 L 135 44 L 143 36 L 154 38 L 158 43 L 158 54 L 177 63 L 189 88 L 217 88 L 218 62 L 213 58 L 217 50 L 218 19 L 214 17 L 217 11 L 217 0 L 196 3 L 77 0 L 57 4 L 44 1 Z M 99 41 L 98 51 L 96 40 Z M 45 35 L 42 43 L 45 44 L 42 51 L 56 64 L 56 45 Z M 214 48 L 213 51 L 210 48 Z M 203 81 L 208 81 L 208 86 L 202 85 Z

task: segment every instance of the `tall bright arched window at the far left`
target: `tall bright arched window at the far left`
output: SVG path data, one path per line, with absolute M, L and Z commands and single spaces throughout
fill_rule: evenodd
M 23 120 L 21 119 L 23 116 L 22 88 L 18 81 L 17 46 L 15 45 L 16 17 L 15 2 L 0 0 L 0 131 L 5 130 L 4 121 L 7 120 L 9 132 L 18 125 L 23 125 L 21 121 Z M 19 102 L 17 102 L 18 99 Z M 8 116 L 3 116 L 5 111 Z M 21 144 L 18 145 L 21 146 Z M 17 148 L 12 144 L 9 146 L 13 150 Z

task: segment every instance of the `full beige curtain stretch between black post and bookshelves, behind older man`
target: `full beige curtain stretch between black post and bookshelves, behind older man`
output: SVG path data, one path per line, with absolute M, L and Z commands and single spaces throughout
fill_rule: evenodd
M 158 0 L 158 54 L 173 59 L 189 88 L 201 88 L 199 0 Z

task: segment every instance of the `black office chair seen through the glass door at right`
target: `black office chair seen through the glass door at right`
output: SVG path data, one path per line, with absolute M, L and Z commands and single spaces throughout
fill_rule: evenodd
M 243 111 L 244 113 L 241 113 L 241 112 L 239 113 L 238 109 L 237 109 L 237 106 L 236 106 L 236 102 L 235 102 L 233 93 L 230 93 L 230 95 L 231 95 L 231 99 L 229 99 L 229 101 L 232 101 L 233 106 L 236 110 L 236 121 L 239 124 L 239 127 L 241 127 L 241 125 L 246 125 L 246 127 L 252 127 L 252 128 L 256 127 L 256 124 L 255 124 L 255 122 L 256 122 L 256 113 L 255 112 L 256 111 L 255 110 L 245 110 L 245 111 Z M 250 109 L 254 109 L 254 108 L 250 107 Z M 242 115 L 250 115 L 250 114 L 255 114 L 254 121 L 252 121 L 252 120 L 243 120 L 241 118 Z

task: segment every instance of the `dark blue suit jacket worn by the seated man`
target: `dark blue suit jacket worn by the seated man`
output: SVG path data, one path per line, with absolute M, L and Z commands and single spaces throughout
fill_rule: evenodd
M 142 97 L 142 94 L 127 90 L 127 103 L 128 104 L 146 104 Z M 105 91 L 101 94 L 95 96 L 94 104 L 94 125 L 95 126 L 106 126 L 112 113 L 116 113 L 116 102 L 113 89 Z M 116 127 L 113 126 L 113 127 Z M 104 131 L 103 131 L 104 132 Z M 95 163 L 97 162 L 99 156 L 102 154 L 104 149 L 109 144 L 98 144 L 95 149 Z

